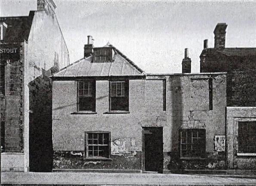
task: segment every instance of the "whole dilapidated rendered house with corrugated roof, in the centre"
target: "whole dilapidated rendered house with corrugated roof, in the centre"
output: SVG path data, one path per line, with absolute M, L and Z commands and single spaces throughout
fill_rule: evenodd
M 183 61 L 190 72 L 188 50 Z M 54 169 L 223 168 L 225 107 L 225 73 L 146 74 L 88 36 L 84 58 L 52 75 Z

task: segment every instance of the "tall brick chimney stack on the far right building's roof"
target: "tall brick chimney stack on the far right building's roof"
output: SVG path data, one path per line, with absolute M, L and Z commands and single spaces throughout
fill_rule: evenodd
M 227 24 L 218 23 L 213 31 L 214 33 L 214 48 L 223 49 L 225 48 L 225 37 Z

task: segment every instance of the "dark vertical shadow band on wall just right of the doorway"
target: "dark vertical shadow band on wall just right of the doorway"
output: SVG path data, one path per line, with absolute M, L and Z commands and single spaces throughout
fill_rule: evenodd
M 183 103 L 182 103 L 182 85 L 180 76 L 170 76 L 171 84 L 167 90 L 172 92 L 170 102 L 172 102 L 172 133 L 171 133 L 171 152 L 168 169 L 173 173 L 182 173 L 182 162 L 179 158 L 179 127 L 183 120 Z

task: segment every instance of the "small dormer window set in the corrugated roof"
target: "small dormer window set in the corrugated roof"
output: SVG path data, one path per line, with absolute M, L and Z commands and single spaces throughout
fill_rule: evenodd
M 112 48 L 106 47 L 106 48 L 94 48 L 93 49 L 94 54 L 94 61 L 111 61 L 112 60 Z

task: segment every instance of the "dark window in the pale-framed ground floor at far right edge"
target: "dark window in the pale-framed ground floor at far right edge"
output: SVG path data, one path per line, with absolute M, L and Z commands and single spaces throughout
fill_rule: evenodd
M 256 153 L 256 121 L 238 122 L 238 153 Z

